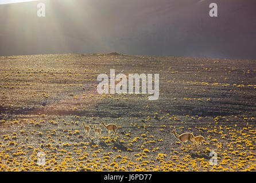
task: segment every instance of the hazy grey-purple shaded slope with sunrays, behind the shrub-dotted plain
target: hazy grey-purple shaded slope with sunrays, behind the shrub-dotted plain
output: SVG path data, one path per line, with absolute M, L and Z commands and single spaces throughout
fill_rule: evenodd
M 46 17 L 37 17 L 37 3 Z M 218 17 L 209 5 L 218 5 Z M 256 59 L 255 0 L 45 0 L 0 5 L 0 55 Z

